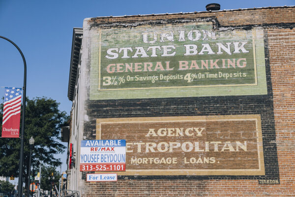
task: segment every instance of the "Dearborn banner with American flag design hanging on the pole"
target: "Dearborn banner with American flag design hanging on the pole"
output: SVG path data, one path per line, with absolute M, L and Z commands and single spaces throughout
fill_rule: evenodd
M 19 137 L 21 101 L 21 88 L 5 88 L 2 118 L 2 137 Z

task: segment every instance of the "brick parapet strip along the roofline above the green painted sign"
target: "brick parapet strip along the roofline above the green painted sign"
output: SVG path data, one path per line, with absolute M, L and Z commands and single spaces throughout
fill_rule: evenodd
M 146 20 L 166 19 L 195 19 L 201 17 L 216 17 L 220 26 L 246 26 L 277 23 L 295 23 L 295 7 L 277 7 L 266 9 L 229 10 L 219 12 L 166 14 L 149 16 L 126 16 L 126 17 L 104 17 L 89 18 L 89 23 L 116 23 L 134 22 Z

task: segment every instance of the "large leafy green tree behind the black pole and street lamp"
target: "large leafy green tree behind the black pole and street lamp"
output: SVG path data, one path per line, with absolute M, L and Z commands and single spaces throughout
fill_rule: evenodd
M 2 113 L 3 104 L 0 105 L 1 127 Z M 29 170 L 29 138 L 32 136 L 35 140 L 31 161 L 31 166 L 34 168 L 32 171 L 37 172 L 40 163 L 59 166 L 61 162 L 55 158 L 55 155 L 65 150 L 65 146 L 60 143 L 60 129 L 67 124 L 68 119 L 66 113 L 59 110 L 59 103 L 56 100 L 26 99 L 23 171 L 26 184 Z M 0 175 L 18 177 L 19 151 L 20 138 L 0 138 Z

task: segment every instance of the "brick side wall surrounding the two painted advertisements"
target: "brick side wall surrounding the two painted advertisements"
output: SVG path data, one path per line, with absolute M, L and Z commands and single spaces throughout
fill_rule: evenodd
M 94 18 L 95 24 L 216 17 L 217 28 L 263 26 L 267 95 L 169 99 L 88 100 L 84 139 L 95 139 L 96 118 L 260 114 L 265 176 L 121 176 L 85 182 L 83 197 L 295 196 L 295 8 Z M 288 24 L 287 24 L 288 23 Z M 85 174 L 84 174 L 85 175 Z M 259 184 L 279 180 L 279 184 Z M 267 182 L 265 182 L 267 183 Z

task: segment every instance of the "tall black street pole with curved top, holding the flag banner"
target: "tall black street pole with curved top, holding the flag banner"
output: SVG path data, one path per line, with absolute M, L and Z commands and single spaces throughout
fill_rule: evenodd
M 23 93 L 23 117 L 22 117 L 22 130 L 21 130 L 21 148 L 20 148 L 20 163 L 19 163 L 19 182 L 18 182 L 18 197 L 22 197 L 23 194 L 23 163 L 24 163 L 24 130 L 25 130 L 25 111 L 26 111 L 26 85 L 27 85 L 27 63 L 25 56 L 21 49 L 10 39 L 0 35 L 0 38 L 3 38 L 13 44 L 17 50 L 20 52 L 23 61 L 24 61 L 24 93 Z

